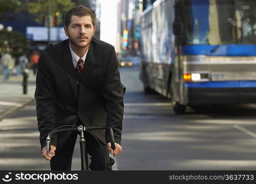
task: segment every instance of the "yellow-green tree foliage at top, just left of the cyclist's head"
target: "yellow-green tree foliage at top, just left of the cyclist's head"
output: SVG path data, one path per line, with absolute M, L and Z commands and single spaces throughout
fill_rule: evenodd
M 63 21 L 65 13 L 73 6 L 71 0 L 48 0 L 50 2 L 50 16 L 57 18 L 57 25 Z M 47 20 L 48 9 L 46 0 L 29 0 L 25 2 L 25 10 L 33 16 L 33 20 L 42 23 Z

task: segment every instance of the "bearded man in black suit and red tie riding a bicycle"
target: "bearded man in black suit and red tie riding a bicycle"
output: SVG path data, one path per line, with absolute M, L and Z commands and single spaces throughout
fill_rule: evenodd
M 114 151 L 104 131 L 94 131 L 104 155 L 94 137 L 87 133 L 86 139 L 92 157 L 90 169 L 104 170 L 106 166 L 111 170 L 113 159 L 109 154 L 116 156 L 122 151 L 124 112 L 124 89 L 114 47 L 92 38 L 95 18 L 87 7 L 70 9 L 65 16 L 64 30 L 68 39 L 47 47 L 38 61 L 35 99 L 42 156 L 50 161 L 52 170 L 71 170 L 77 133 L 57 134 L 52 139 L 49 156 L 46 155 L 47 134 L 62 125 L 108 125 L 114 132 Z M 72 77 L 74 73 L 85 85 Z

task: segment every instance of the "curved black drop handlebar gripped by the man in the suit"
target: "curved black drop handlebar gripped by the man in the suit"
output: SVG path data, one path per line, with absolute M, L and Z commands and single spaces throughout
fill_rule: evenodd
M 50 139 L 52 138 L 52 136 L 54 134 L 57 134 L 58 132 L 66 132 L 66 131 L 69 131 L 69 132 L 82 132 L 82 131 L 86 131 L 86 130 L 94 130 L 94 129 L 105 129 L 109 136 L 110 136 L 110 143 L 111 143 L 111 148 L 113 150 L 116 149 L 116 145 L 114 144 L 114 135 L 113 135 L 113 130 L 110 126 L 89 126 L 89 127 L 86 127 L 86 126 L 83 126 L 83 125 L 80 125 L 80 126 L 76 126 L 76 125 L 65 125 L 65 126 L 72 126 L 72 128 L 62 128 L 63 126 L 60 126 L 56 129 L 54 129 L 53 131 L 49 132 L 47 138 L 46 138 L 46 147 L 47 147 L 47 155 L 49 155 L 49 152 L 50 152 Z M 60 129 L 62 128 L 62 129 Z

